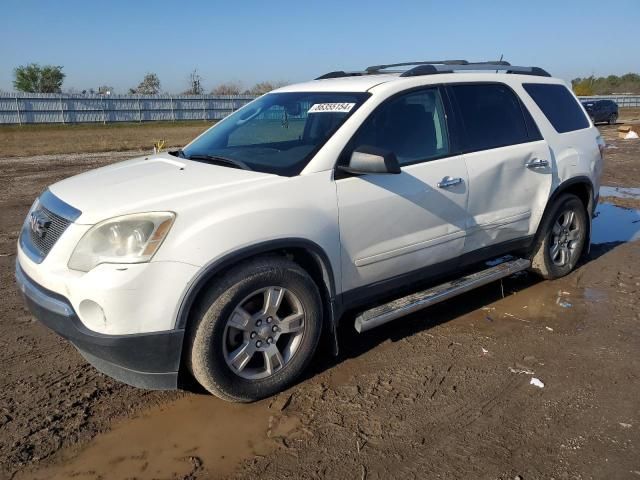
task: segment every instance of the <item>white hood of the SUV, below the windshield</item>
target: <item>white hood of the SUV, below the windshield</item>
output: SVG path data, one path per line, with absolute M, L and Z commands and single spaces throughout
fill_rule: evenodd
M 49 190 L 82 212 L 76 223 L 94 224 L 127 213 L 179 213 L 203 198 L 215 202 L 230 193 L 278 181 L 283 178 L 160 153 L 91 170 Z

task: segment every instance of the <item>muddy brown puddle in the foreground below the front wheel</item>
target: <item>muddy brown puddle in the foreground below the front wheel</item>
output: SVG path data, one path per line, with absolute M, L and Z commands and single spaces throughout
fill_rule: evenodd
M 63 451 L 48 468 L 16 479 L 174 479 L 227 476 L 245 459 L 268 454 L 298 425 L 270 409 L 190 395 L 116 424 L 79 451 Z M 277 415 L 275 414 L 277 412 Z

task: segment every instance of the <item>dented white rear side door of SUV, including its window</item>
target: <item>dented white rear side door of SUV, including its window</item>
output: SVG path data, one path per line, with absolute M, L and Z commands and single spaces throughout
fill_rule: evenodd
M 547 142 L 509 86 L 457 84 L 448 91 L 469 173 L 465 253 L 527 238 L 537 225 L 535 208 L 551 191 Z

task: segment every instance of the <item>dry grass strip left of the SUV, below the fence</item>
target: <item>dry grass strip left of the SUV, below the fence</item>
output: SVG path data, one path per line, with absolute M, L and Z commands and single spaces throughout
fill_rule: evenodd
M 74 125 L 0 125 L 0 157 L 151 150 L 164 140 L 182 146 L 213 123 L 148 122 Z

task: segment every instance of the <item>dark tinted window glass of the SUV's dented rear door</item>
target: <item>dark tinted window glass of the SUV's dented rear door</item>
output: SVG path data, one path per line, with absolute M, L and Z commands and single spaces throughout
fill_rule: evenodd
M 500 83 L 452 85 L 460 112 L 464 151 L 488 150 L 539 139 L 533 122 L 527 129 L 522 104 L 513 91 Z M 528 112 L 527 112 L 528 113 Z

